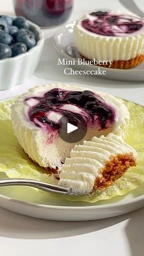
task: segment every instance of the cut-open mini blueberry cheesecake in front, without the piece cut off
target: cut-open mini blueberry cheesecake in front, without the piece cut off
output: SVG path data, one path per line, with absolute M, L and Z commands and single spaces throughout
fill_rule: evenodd
M 63 116 L 74 126 L 86 123 L 84 138 L 76 143 L 61 139 Z M 59 173 L 76 144 L 112 132 L 121 136 L 128 121 L 128 109 L 112 95 L 61 83 L 29 89 L 12 105 L 13 130 L 21 147 L 34 163 L 53 174 Z

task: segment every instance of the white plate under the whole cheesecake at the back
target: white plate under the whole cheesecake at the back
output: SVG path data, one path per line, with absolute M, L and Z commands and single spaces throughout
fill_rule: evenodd
M 76 21 L 67 24 L 66 26 L 60 27 L 60 29 L 54 35 L 54 45 L 56 49 L 68 60 L 75 59 L 75 67 L 81 70 L 98 70 L 99 67 L 94 65 L 77 65 L 77 52 L 74 43 L 74 24 Z M 71 68 L 74 66 L 71 66 Z M 129 70 L 120 70 L 115 68 L 104 68 L 100 67 L 101 70 L 106 70 L 106 75 L 99 75 L 102 78 L 109 78 L 121 81 L 144 81 L 144 62 L 135 68 Z

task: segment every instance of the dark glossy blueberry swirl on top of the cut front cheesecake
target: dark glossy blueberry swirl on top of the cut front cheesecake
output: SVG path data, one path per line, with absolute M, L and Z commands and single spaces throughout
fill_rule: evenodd
M 110 128 L 115 123 L 116 113 L 112 106 L 90 90 L 81 92 L 54 88 L 43 97 L 29 97 L 25 101 L 31 99 L 38 104 L 29 110 L 29 119 L 36 126 L 47 130 L 60 129 L 59 120 L 54 121 L 53 115 L 65 115 L 73 125 L 78 125 L 79 122 L 87 122 L 87 126 L 96 125 L 98 130 Z

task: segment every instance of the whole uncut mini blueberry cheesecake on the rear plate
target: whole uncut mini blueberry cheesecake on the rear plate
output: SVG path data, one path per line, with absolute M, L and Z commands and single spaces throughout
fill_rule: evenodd
M 144 19 L 139 16 L 92 12 L 77 21 L 74 36 L 81 57 L 113 60 L 110 68 L 133 68 L 144 59 Z

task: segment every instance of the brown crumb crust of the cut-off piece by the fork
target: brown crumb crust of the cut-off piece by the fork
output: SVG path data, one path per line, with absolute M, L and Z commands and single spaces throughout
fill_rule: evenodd
M 113 181 L 118 180 L 129 167 L 136 166 L 133 153 L 118 154 L 111 156 L 104 168 L 101 170 L 103 177 L 96 179 L 93 190 L 103 190 L 112 185 Z

